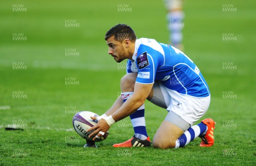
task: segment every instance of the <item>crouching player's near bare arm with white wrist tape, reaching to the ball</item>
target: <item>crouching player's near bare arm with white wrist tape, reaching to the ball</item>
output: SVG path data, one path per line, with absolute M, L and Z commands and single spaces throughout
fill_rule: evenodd
M 115 113 L 108 116 L 107 118 L 100 119 L 98 123 L 87 130 L 87 132 L 95 129 L 94 132 L 92 132 L 89 137 L 92 137 L 93 135 L 102 136 L 99 134 L 99 132 L 107 132 L 110 128 L 110 125 L 108 124 L 108 121 L 110 120 L 111 124 L 113 124 L 116 121 L 122 120 L 123 118 L 131 115 L 134 113 L 146 100 L 148 97 L 154 83 L 151 84 L 140 84 L 135 83 L 134 85 L 134 93 L 131 96 L 131 98 L 128 98 L 127 101 L 125 101 L 124 104 L 122 104 L 122 107 L 119 108 Z M 96 117 L 92 117 L 95 118 Z M 93 138 L 95 140 L 96 137 Z

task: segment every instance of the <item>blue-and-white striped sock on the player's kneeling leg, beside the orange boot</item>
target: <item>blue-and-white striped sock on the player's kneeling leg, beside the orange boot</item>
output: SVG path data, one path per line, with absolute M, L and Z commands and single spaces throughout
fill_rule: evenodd
M 175 148 L 186 146 L 186 144 L 193 141 L 195 138 L 202 136 L 206 131 L 207 125 L 203 124 L 202 122 L 190 127 L 186 132 L 183 133 L 183 135 L 180 136 L 180 138 L 176 140 Z

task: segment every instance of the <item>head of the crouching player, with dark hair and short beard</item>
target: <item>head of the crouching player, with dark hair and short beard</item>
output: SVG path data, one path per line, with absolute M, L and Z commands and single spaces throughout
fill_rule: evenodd
M 131 27 L 126 24 L 115 25 L 105 35 L 108 54 L 111 54 L 116 62 L 131 59 L 136 39 L 136 35 Z

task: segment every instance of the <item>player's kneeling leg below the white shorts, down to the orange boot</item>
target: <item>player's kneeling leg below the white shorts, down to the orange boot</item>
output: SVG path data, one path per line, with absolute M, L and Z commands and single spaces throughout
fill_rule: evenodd
M 205 119 L 200 124 L 189 127 L 189 123 L 169 111 L 153 138 L 153 146 L 160 149 L 184 147 L 197 137 L 202 138 L 200 146 L 212 146 L 214 125 L 212 119 Z

